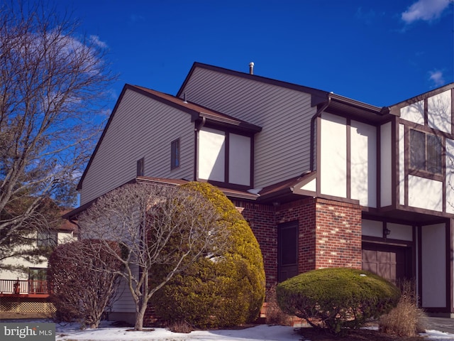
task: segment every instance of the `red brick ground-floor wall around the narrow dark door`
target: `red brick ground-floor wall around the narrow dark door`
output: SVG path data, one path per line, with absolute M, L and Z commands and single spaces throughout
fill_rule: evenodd
M 298 222 L 299 273 L 326 267 L 361 269 L 361 207 L 321 198 L 279 206 L 235 202 L 258 239 L 267 286 L 277 283 L 277 226 Z

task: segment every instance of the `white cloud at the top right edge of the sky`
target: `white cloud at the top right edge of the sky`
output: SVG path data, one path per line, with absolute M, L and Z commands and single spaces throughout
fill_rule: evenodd
M 406 23 L 432 21 L 438 18 L 449 4 L 450 0 L 418 0 L 402 13 L 402 20 Z

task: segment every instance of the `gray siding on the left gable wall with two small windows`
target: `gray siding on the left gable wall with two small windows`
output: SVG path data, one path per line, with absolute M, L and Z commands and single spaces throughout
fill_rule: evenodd
M 170 143 L 180 139 L 180 167 L 170 171 Z M 81 205 L 132 180 L 145 158 L 144 175 L 194 178 L 194 125 L 189 114 L 126 90 L 87 170 Z

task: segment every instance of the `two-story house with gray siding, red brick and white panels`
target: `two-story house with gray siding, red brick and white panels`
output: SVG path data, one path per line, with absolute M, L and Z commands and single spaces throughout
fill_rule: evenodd
M 208 181 L 250 223 L 267 285 L 362 268 L 415 278 L 454 317 L 453 88 L 375 107 L 201 63 L 176 96 L 126 85 L 67 217 L 131 180 Z

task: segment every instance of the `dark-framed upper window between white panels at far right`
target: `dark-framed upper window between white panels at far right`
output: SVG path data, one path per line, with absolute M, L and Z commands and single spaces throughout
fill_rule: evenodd
M 410 168 L 441 174 L 441 138 L 410 129 Z

